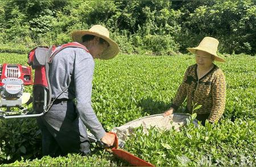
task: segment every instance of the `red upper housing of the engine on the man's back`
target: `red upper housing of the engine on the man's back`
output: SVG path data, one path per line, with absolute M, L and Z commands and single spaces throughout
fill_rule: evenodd
M 3 64 L 0 65 L 0 86 L 5 78 L 19 78 L 24 85 L 33 85 L 31 67 L 20 64 Z

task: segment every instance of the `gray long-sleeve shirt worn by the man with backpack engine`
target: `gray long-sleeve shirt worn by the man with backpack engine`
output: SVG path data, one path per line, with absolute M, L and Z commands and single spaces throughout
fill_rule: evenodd
M 58 49 L 58 48 L 57 48 Z M 49 81 L 52 98 L 77 100 L 77 111 L 85 126 L 97 139 L 105 135 L 91 105 L 94 60 L 90 53 L 81 48 L 65 48 L 54 57 L 49 65 Z

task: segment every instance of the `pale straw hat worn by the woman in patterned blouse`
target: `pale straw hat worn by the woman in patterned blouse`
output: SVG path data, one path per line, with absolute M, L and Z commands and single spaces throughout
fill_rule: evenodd
M 204 39 L 200 42 L 200 44 L 195 48 L 187 48 L 189 52 L 195 54 L 197 50 L 204 51 L 210 53 L 210 55 L 214 56 L 214 60 L 225 62 L 220 56 L 217 55 L 218 48 L 218 40 L 214 37 L 204 37 Z

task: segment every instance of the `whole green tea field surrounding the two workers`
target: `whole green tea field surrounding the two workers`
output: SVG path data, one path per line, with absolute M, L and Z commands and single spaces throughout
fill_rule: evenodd
M 220 123 L 143 135 L 138 128 L 125 149 L 156 166 L 256 165 L 256 57 L 226 55 L 216 64 L 226 76 L 226 108 Z M 4 62 L 26 65 L 27 55 L 0 53 Z M 96 60 L 92 106 L 105 130 L 170 107 L 191 55 L 118 55 Z M 31 86 L 26 87 L 31 92 Z M 183 104 L 185 106 L 185 103 Z M 31 108 L 31 106 L 28 106 Z M 0 120 L 0 162 L 3 166 L 127 166 L 92 144 L 93 155 L 42 157 L 35 119 Z M 11 164 L 10 164 L 11 163 Z

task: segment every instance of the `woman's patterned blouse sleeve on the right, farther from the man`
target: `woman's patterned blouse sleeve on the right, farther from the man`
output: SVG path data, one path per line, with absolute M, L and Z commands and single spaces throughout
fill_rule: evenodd
M 209 122 L 217 122 L 224 110 L 226 103 L 226 81 L 224 73 L 220 70 L 212 85 L 213 107 L 209 115 Z

